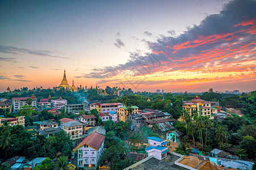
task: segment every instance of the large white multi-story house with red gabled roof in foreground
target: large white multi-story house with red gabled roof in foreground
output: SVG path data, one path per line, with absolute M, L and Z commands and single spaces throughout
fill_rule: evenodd
M 98 160 L 104 150 L 104 135 L 97 132 L 88 135 L 75 148 L 77 151 L 77 167 L 97 167 Z

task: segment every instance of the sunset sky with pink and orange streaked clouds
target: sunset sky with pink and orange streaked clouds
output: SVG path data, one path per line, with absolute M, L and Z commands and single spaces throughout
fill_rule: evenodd
M 256 90 L 255 0 L 0 1 L 0 91 Z

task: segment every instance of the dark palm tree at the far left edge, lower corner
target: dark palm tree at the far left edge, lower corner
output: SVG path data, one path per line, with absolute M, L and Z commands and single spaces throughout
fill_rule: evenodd
M 7 158 L 7 149 L 12 145 L 13 139 L 16 138 L 14 134 L 11 135 L 9 130 L 5 130 L 0 136 L 0 148 L 5 150 L 5 158 Z

